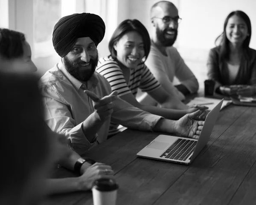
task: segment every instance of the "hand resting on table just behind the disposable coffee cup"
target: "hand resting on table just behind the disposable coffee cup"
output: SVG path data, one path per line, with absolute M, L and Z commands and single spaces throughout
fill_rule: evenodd
M 111 166 L 96 162 L 84 171 L 79 177 L 79 190 L 86 191 L 93 187 L 96 179 L 111 178 L 113 179 L 113 170 Z

